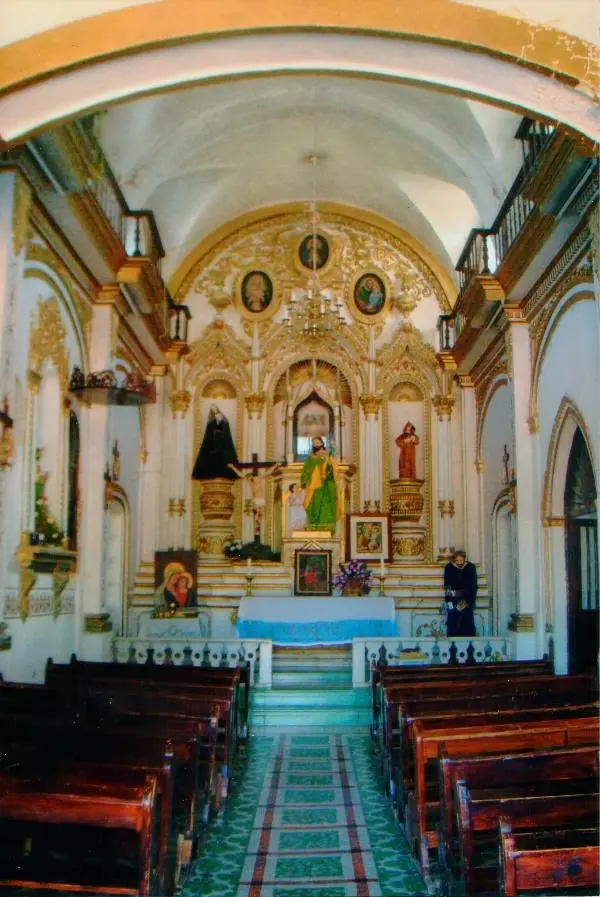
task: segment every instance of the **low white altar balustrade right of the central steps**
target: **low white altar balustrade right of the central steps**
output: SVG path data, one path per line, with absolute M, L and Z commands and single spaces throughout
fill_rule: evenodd
M 371 681 L 373 662 L 389 666 L 448 664 L 452 644 L 456 660 L 466 663 L 471 654 L 476 663 L 497 663 L 512 660 L 512 643 L 506 638 L 473 636 L 473 638 L 355 638 L 352 639 L 352 684 L 355 688 Z M 404 653 L 403 653 L 404 652 Z M 418 657 L 418 652 L 421 657 Z

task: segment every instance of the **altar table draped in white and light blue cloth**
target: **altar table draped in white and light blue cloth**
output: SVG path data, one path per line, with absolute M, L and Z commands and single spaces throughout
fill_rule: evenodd
M 240 638 L 267 638 L 276 645 L 340 645 L 353 638 L 395 636 L 393 598 L 242 598 Z

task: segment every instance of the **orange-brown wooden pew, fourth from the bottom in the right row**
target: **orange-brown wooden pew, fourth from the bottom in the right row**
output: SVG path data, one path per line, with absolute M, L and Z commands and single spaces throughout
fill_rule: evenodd
M 435 720 L 418 719 L 412 727 L 414 757 L 414 789 L 408 797 L 406 808 L 406 836 L 414 855 L 420 859 L 423 874 L 428 875 L 429 852 L 438 845 L 439 794 L 437 774 L 428 790 L 428 764 L 434 761 L 440 748 L 446 748 L 449 756 L 492 754 L 516 750 L 537 750 L 545 747 L 563 747 L 577 744 L 596 744 L 598 741 L 598 714 L 595 707 L 579 715 L 564 710 L 556 716 L 549 712 L 529 711 L 534 718 L 525 716 L 515 722 L 512 714 L 474 714 L 446 724 Z M 535 718 L 537 716 L 537 718 Z M 545 718 L 544 718 L 545 717 Z M 432 793 L 432 788 L 435 791 Z

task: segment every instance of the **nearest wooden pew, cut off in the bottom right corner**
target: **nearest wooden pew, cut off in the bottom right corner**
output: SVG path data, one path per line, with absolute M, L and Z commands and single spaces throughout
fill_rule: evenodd
M 500 887 L 504 897 L 524 891 L 570 889 L 600 893 L 598 826 L 514 832 L 505 818 L 499 822 Z

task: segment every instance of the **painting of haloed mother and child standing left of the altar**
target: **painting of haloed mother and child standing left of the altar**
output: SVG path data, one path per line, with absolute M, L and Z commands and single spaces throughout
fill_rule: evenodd
M 154 554 L 154 612 L 175 615 L 197 607 L 198 552 L 184 549 Z

